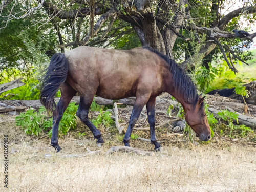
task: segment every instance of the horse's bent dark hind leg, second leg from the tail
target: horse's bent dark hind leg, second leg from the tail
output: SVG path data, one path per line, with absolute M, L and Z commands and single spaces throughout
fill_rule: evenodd
M 101 145 L 104 143 L 100 131 L 94 126 L 94 124 L 89 120 L 88 118 L 88 112 L 90 109 L 90 106 L 93 102 L 94 94 L 90 96 L 81 96 L 80 97 L 80 104 L 79 108 L 76 111 L 76 115 L 81 119 L 81 121 L 88 126 L 88 128 L 93 133 L 93 136 L 95 139 L 98 139 L 97 144 Z

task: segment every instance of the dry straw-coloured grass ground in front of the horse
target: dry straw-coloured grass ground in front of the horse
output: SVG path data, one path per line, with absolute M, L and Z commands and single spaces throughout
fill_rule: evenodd
M 0 125 L 1 138 L 4 134 L 11 141 L 10 175 L 8 190 L 1 182 L 0 191 L 256 191 L 255 145 L 181 143 L 179 147 L 165 146 L 164 152 L 154 156 L 117 152 L 63 158 L 63 154 L 86 153 L 87 147 L 95 150 L 95 141 L 60 139 L 62 151 L 56 154 L 49 147 L 49 139 L 25 136 L 14 123 Z M 153 150 L 143 141 L 132 144 Z M 122 144 L 108 140 L 102 151 L 112 145 Z M 1 179 L 3 168 L 1 163 Z

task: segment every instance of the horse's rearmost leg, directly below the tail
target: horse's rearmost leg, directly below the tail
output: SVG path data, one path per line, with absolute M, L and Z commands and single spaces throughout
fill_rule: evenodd
M 51 145 L 59 152 L 61 150 L 58 144 L 58 129 L 59 129 L 59 122 L 63 116 L 63 113 L 67 109 L 69 102 L 76 94 L 76 91 L 68 84 L 64 83 L 61 88 L 61 97 L 57 104 L 58 108 L 58 115 L 53 117 L 53 127 L 52 127 L 52 138 L 51 138 Z

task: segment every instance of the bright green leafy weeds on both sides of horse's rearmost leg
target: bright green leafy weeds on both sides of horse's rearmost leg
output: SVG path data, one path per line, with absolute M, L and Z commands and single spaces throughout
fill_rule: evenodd
M 69 104 L 59 123 L 59 133 L 66 135 L 70 129 L 75 129 L 75 120 L 77 119 L 75 113 L 77 108 L 78 105 L 75 105 L 75 103 Z M 25 129 L 26 134 L 39 136 L 40 132 L 47 131 L 53 123 L 53 118 L 48 118 L 45 112 L 46 110 L 42 106 L 38 112 L 35 112 L 34 109 L 27 110 L 25 113 L 20 113 L 16 117 L 16 124 L 17 126 L 21 126 L 22 129 Z M 52 130 L 48 134 L 51 137 Z

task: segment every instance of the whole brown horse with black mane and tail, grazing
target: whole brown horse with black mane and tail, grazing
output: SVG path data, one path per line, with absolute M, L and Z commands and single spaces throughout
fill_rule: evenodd
M 60 88 L 61 97 L 56 107 L 54 95 Z M 198 96 L 191 79 L 167 56 L 150 48 L 113 50 L 81 46 L 51 58 L 41 88 L 41 103 L 53 112 L 51 145 L 57 151 L 58 126 L 64 111 L 76 93 L 80 104 L 76 115 L 92 131 L 97 143 L 103 143 L 100 131 L 88 119 L 95 95 L 106 99 L 136 96 L 129 126 L 123 138 L 125 146 L 133 127 L 146 105 L 151 142 L 155 150 L 161 145 L 155 135 L 156 97 L 167 92 L 183 106 L 187 124 L 203 141 L 210 139 L 210 127 L 204 110 L 204 97 Z

